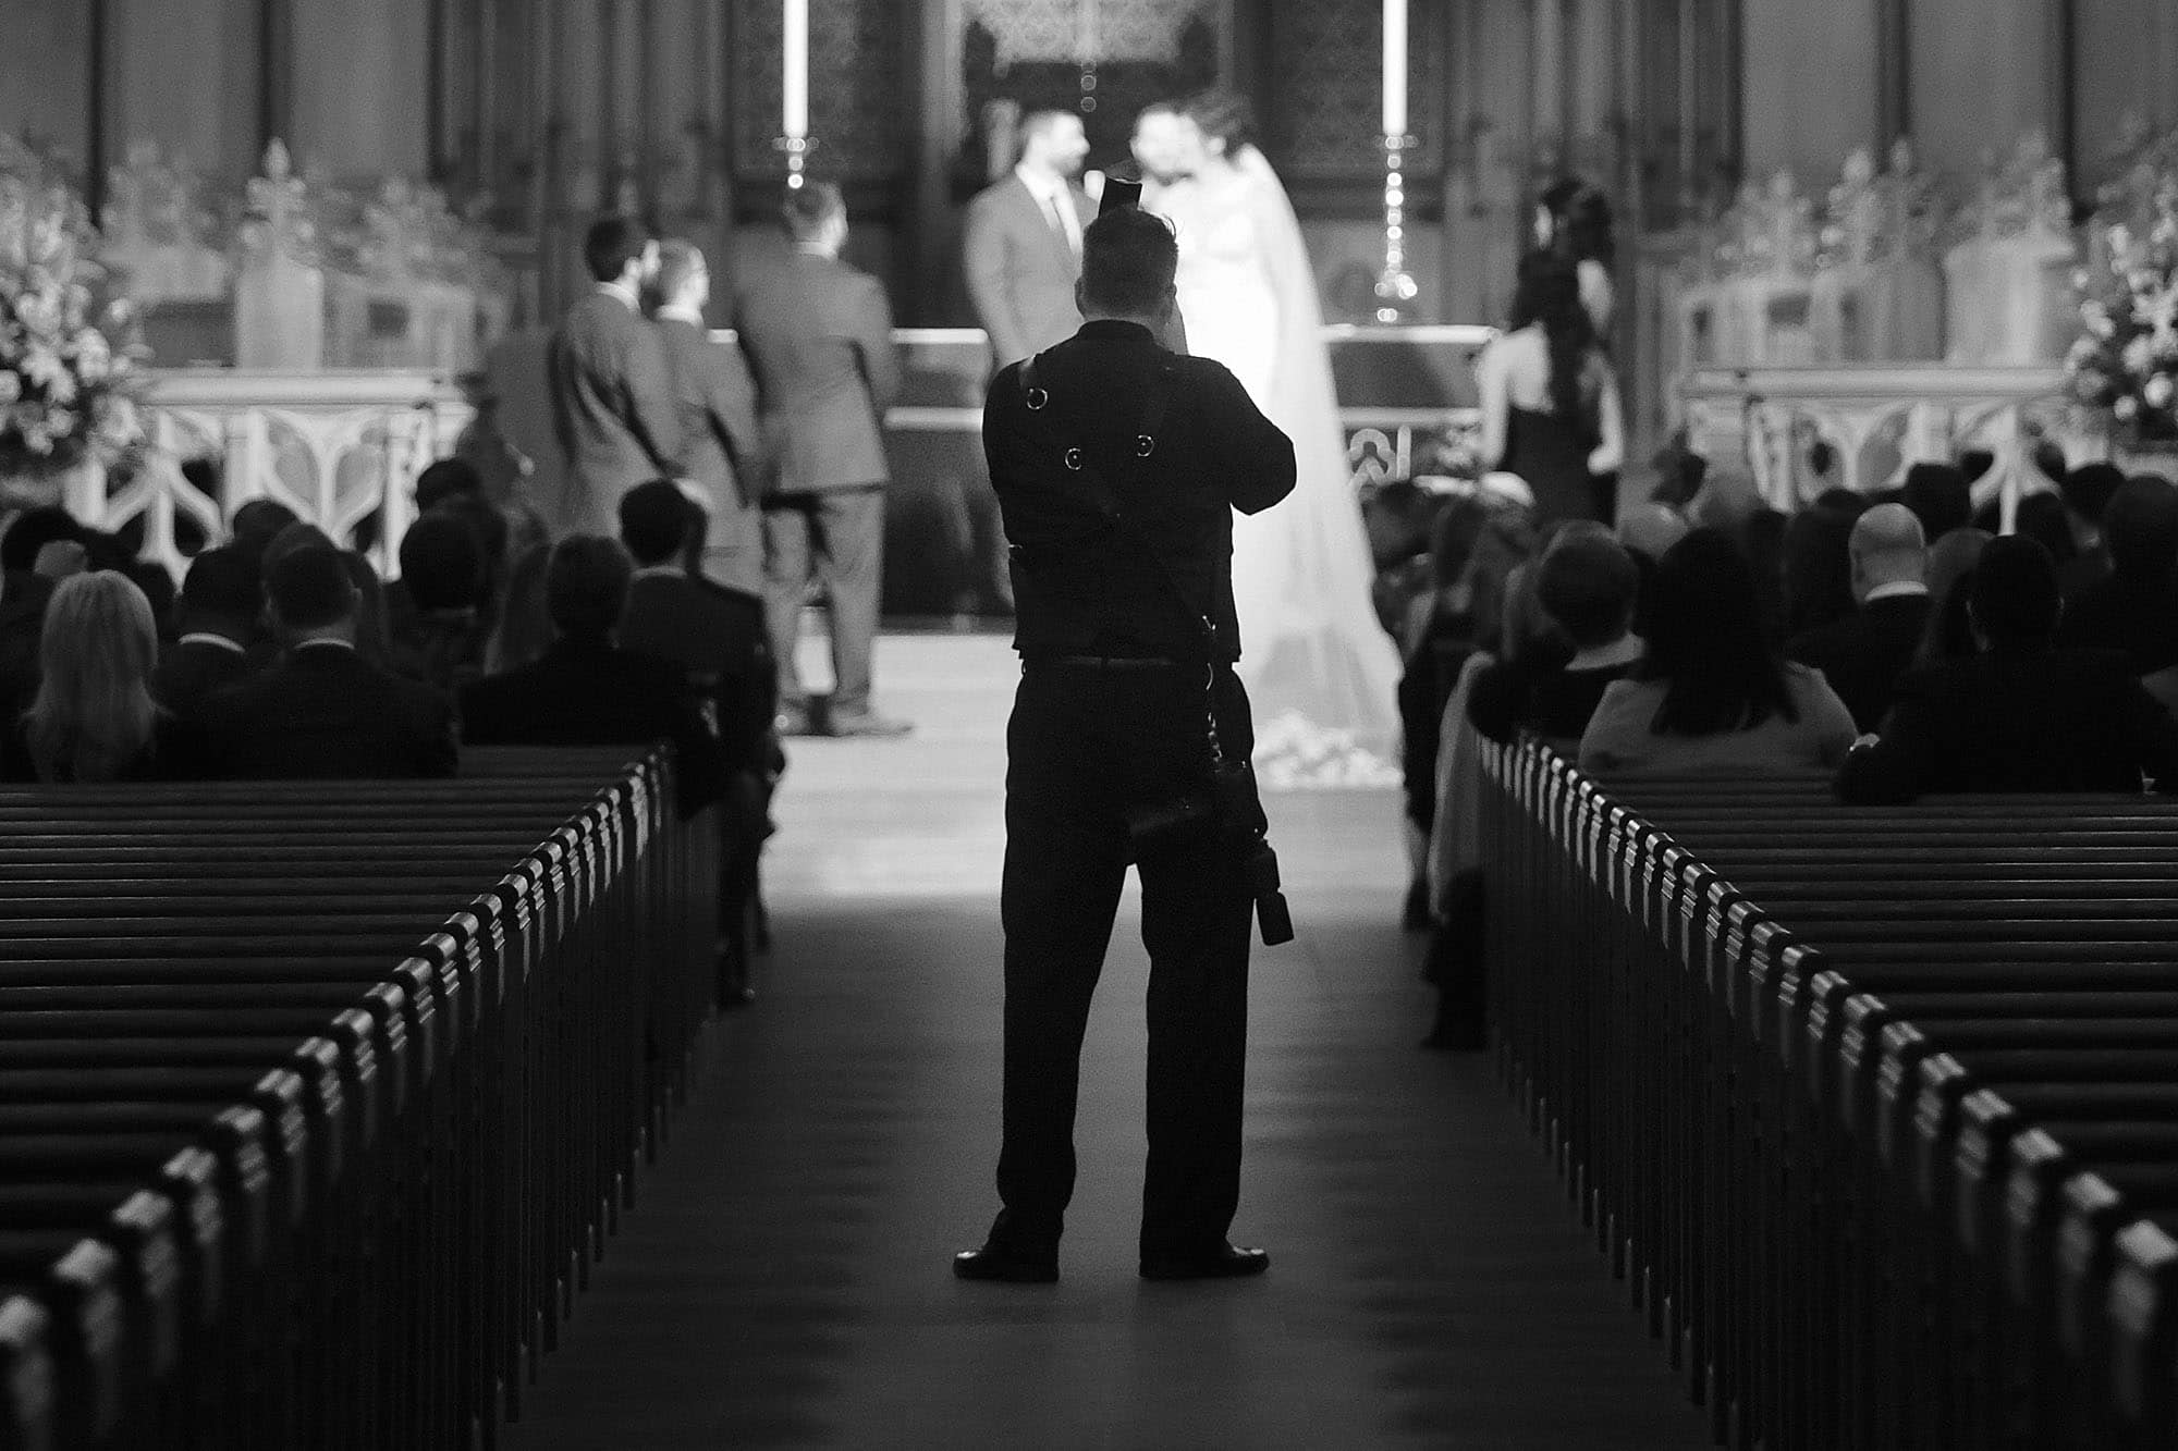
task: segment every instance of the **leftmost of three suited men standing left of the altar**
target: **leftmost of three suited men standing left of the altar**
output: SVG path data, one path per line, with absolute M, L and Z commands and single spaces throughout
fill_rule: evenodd
M 566 497 L 547 516 L 562 534 L 612 534 L 621 495 L 680 473 L 682 436 L 664 344 L 640 312 L 658 242 L 643 222 L 608 216 L 582 255 L 597 285 L 566 309 L 544 364 L 568 464 Z

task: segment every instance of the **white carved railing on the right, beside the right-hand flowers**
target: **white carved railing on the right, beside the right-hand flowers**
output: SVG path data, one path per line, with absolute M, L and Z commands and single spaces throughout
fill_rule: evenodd
M 1679 410 L 1712 468 L 1747 466 L 1784 510 L 1832 486 L 1893 488 L 1912 464 L 1989 449 L 1995 464 L 1975 481 L 1975 503 L 1999 501 L 2010 529 L 2021 495 L 2054 488 L 2034 464 L 2036 442 L 2058 444 L 2073 464 L 2108 453 L 2071 418 L 2063 368 L 1705 368 L 1679 381 Z M 1834 475 L 1814 473 L 1816 440 L 1836 451 Z

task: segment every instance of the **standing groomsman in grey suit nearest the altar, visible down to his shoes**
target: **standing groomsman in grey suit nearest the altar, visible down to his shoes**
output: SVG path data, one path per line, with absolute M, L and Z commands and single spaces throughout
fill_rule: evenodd
M 775 481 L 764 497 L 764 610 L 780 662 L 780 726 L 812 730 L 795 638 L 812 580 L 832 617 L 825 730 L 897 736 L 906 721 L 871 708 L 871 654 L 884 577 L 884 412 L 900 397 L 893 309 L 876 277 L 839 259 L 847 205 L 812 181 L 780 209 L 793 251 L 738 279 L 734 325 L 756 373 Z

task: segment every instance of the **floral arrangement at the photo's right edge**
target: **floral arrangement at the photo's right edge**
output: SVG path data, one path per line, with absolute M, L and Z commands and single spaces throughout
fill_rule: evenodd
M 2124 442 L 2178 440 L 2178 176 L 2158 187 L 2145 227 L 2108 227 L 2073 283 L 2073 403 Z

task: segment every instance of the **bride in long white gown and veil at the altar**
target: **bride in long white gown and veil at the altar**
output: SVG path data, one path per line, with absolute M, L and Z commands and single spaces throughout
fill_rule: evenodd
M 1180 242 L 1187 349 L 1215 357 L 1294 440 L 1300 481 L 1233 519 L 1233 603 L 1265 784 L 1396 782 L 1398 649 L 1370 603 L 1370 553 L 1322 340 L 1316 277 L 1237 98 L 1143 113 L 1143 205 Z

